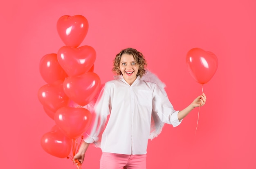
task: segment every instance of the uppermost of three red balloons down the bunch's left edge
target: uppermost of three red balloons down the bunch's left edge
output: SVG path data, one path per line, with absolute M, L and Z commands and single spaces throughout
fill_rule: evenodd
M 64 80 L 67 77 L 67 73 L 58 62 L 56 53 L 43 56 L 40 60 L 39 70 L 43 80 L 48 84 L 52 84 L 57 80 Z

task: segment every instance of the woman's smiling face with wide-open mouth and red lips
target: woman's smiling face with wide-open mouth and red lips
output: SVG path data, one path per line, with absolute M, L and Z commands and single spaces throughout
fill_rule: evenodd
M 132 85 L 137 78 L 139 66 L 132 55 L 123 54 L 120 60 L 120 70 L 124 80 L 126 80 L 129 85 Z

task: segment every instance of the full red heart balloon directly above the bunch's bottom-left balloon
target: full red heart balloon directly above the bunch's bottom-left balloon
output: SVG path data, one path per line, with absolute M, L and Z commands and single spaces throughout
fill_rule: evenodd
M 90 126 L 92 114 L 83 107 L 61 107 L 56 111 L 54 120 L 67 137 L 76 139 Z

